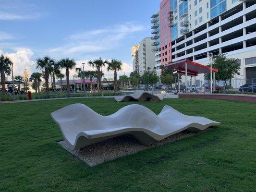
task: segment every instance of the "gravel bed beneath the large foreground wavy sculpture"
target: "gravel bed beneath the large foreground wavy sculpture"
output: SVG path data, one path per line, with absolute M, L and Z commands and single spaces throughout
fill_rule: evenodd
M 156 141 L 150 145 L 140 144 L 132 135 L 122 135 L 78 150 L 71 150 L 65 140 L 59 141 L 58 143 L 73 156 L 84 161 L 90 167 L 93 167 L 104 163 L 105 161 L 110 161 L 121 156 L 128 156 L 145 149 L 171 143 L 195 134 L 195 132 L 183 131 L 171 135 L 162 141 Z

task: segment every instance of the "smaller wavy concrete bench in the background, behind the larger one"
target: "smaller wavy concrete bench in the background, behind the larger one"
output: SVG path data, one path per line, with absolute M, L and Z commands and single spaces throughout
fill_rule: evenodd
M 122 101 L 122 102 L 127 102 L 127 101 L 162 101 L 163 97 L 165 95 L 153 95 L 150 92 L 139 92 L 139 93 L 134 93 L 126 96 L 115 96 L 116 101 Z

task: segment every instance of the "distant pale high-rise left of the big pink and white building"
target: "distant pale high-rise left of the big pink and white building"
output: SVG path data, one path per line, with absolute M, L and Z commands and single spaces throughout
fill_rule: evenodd
M 132 47 L 132 56 L 134 50 L 133 71 L 137 71 L 140 75 L 147 71 L 148 68 L 150 68 L 149 71 L 152 71 L 155 67 L 153 42 L 154 40 L 151 37 L 146 37 L 138 45 Z

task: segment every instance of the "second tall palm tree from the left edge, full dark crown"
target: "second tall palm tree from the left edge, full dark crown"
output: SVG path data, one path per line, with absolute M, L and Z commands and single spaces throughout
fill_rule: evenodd
M 52 64 L 54 60 L 49 57 L 44 57 L 43 59 L 37 59 L 37 69 L 44 71 L 43 77 L 45 79 L 46 93 L 49 93 L 49 74 L 52 71 Z

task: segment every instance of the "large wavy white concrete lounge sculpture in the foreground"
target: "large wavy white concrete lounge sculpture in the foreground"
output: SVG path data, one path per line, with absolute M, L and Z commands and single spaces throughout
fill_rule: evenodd
M 156 115 L 142 105 L 128 105 L 112 115 L 102 116 L 83 104 L 72 104 L 51 113 L 72 150 L 124 134 L 132 134 L 142 144 L 152 144 L 172 134 L 205 130 L 219 122 L 187 116 L 164 106 Z

